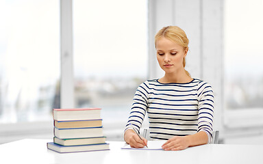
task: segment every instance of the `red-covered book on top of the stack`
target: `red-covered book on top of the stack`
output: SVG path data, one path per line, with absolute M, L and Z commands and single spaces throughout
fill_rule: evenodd
M 53 119 L 57 121 L 101 119 L 100 108 L 53 109 Z

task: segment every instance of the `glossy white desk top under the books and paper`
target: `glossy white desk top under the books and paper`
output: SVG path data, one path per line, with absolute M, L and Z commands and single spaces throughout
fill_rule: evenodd
M 181 151 L 122 150 L 124 142 L 107 141 L 110 149 L 64 153 L 47 150 L 49 139 L 23 139 L 0 145 L 0 163 L 263 163 L 263 145 L 203 145 Z

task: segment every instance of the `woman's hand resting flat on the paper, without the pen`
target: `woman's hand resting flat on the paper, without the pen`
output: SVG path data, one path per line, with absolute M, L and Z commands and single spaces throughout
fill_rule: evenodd
M 184 150 L 190 146 L 190 140 L 187 136 L 175 136 L 168 139 L 163 145 L 164 150 Z

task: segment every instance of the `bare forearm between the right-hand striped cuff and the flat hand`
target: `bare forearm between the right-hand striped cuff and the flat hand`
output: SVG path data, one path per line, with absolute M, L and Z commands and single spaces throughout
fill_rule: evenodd
M 204 131 L 199 131 L 195 135 L 186 136 L 190 146 L 199 146 L 208 143 L 208 135 Z

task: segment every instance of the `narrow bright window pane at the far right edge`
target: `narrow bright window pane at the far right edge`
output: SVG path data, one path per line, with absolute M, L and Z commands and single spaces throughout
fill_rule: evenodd
M 262 0 L 225 1 L 227 109 L 263 109 L 262 8 Z

